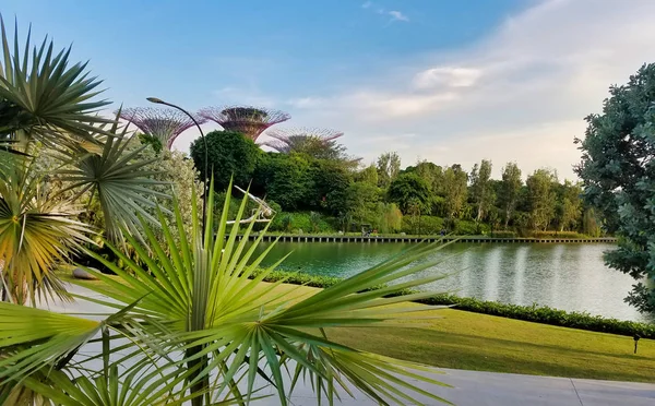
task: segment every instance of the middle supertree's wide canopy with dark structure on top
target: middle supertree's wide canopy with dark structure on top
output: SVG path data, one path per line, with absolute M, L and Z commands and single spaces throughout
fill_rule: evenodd
M 269 129 L 291 118 L 278 110 L 267 110 L 251 106 L 207 107 L 199 111 L 204 119 L 212 120 L 226 131 L 236 131 L 252 141 Z

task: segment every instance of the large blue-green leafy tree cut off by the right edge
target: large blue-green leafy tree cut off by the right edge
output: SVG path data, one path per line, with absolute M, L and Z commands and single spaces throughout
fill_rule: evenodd
M 587 204 L 606 231 L 620 237 L 606 263 L 639 280 L 626 301 L 655 311 L 655 64 L 609 94 L 603 112 L 586 117 L 584 139 L 575 140 L 582 151 L 576 172 Z

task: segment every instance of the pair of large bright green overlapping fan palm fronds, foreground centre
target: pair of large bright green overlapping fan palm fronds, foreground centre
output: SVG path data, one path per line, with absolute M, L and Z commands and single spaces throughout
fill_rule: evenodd
M 207 204 L 212 206 L 212 202 Z M 444 277 L 433 275 L 393 285 L 408 274 L 434 265 L 436 261 L 420 260 L 442 244 L 419 244 L 403 255 L 294 303 L 287 297 L 275 294 L 275 287 L 282 282 L 261 284 L 275 266 L 257 273 L 257 277 L 252 276 L 267 251 L 255 255 L 262 237 L 251 244 L 248 236 L 253 224 L 245 229 L 239 226 L 246 201 L 231 227 L 227 225 L 227 207 L 229 196 L 218 229 L 210 229 L 204 238 L 196 232 L 195 238 L 188 242 L 183 238 L 184 228 L 179 213 L 175 225 L 167 224 L 160 216 L 167 243 L 175 246 L 171 250 L 159 244 L 147 222 L 142 220 L 147 244 L 130 236 L 127 238 L 136 252 L 144 255 L 147 270 L 114 248 L 129 270 L 121 270 L 96 256 L 117 273 L 121 282 L 96 273 L 106 287 L 92 289 L 110 298 L 111 301 L 103 302 L 116 309 L 142 297 L 131 314 L 165 323 L 174 332 L 168 345 L 170 350 L 183 351 L 180 365 L 200 369 L 191 375 L 191 385 L 207 387 L 207 378 L 219 373 L 222 382 L 214 389 L 216 394 L 224 393 L 242 368 L 248 368 L 247 393 L 250 393 L 260 367 L 258 362 L 264 362 L 263 369 L 271 371 L 269 378 L 275 383 L 281 404 L 286 404 L 288 393 L 283 379 L 284 365 L 294 362 L 300 371 L 318 377 L 321 387 L 330 387 L 331 397 L 337 386 L 350 386 L 379 402 L 384 399 L 383 404 L 409 402 L 412 396 L 405 394 L 407 391 L 442 401 L 396 378 L 405 375 L 436 382 L 412 372 L 412 368 L 420 369 L 420 366 L 361 353 L 334 343 L 320 333 L 325 327 L 374 326 L 401 320 L 407 325 L 413 318 L 418 320 L 419 317 L 413 314 L 416 312 L 414 307 L 389 309 L 389 304 L 412 298 L 388 296 Z M 212 217 L 213 214 L 210 214 L 207 224 L 213 224 Z M 198 223 L 194 229 L 201 229 Z M 175 234 L 180 238 L 174 238 Z M 111 247 L 110 242 L 107 244 Z M 152 256 L 148 258 L 147 252 L 152 252 Z M 389 287 L 376 288 L 383 284 L 389 284 Z M 417 296 L 431 295 L 434 294 Z M 313 355 L 310 356 L 310 353 Z

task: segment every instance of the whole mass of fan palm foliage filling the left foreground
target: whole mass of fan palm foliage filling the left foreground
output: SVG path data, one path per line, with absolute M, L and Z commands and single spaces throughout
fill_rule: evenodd
M 410 393 L 440 399 L 406 380 L 439 384 L 412 372 L 424 367 L 330 339 L 331 329 L 410 325 L 416 308 L 389 306 L 432 295 L 397 297 L 443 277 L 402 282 L 434 264 L 418 261 L 433 247 L 417 244 L 309 297 L 281 292 L 284 280 L 263 284 L 277 264 L 259 270 L 271 248 L 255 255 L 264 234 L 248 242 L 253 223 L 240 226 L 247 199 L 229 228 L 228 195 L 215 229 L 213 215 L 206 227 L 200 224 L 194 196 L 188 237 L 177 202 L 169 222 L 148 199 L 152 172 L 139 150 L 128 148 L 126 129 L 97 115 L 107 101 L 94 101 L 100 82 L 88 77 L 85 64 L 69 67 L 70 49 L 55 53 L 48 40 L 32 49 L 29 36 L 21 57 L 16 35 L 12 53 L 1 19 L 0 29 L 0 404 L 247 404 L 260 396 L 258 375 L 283 405 L 300 380 L 330 403 L 349 387 L 381 404 L 413 402 Z M 37 147 L 60 165 L 39 171 Z M 53 178 L 61 188 L 49 188 Z M 104 230 L 76 216 L 80 203 L 94 202 Z M 88 249 L 91 232 L 124 267 Z M 126 244 L 142 262 L 124 253 Z M 76 251 L 116 273 L 87 270 L 104 284 L 76 295 L 110 311 L 37 309 L 39 297 L 71 299 L 53 271 Z

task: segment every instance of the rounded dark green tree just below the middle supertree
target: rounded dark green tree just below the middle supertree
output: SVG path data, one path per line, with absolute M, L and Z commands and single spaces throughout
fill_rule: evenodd
M 207 143 L 207 169 L 215 179 L 216 191 L 226 190 L 230 180 L 246 188 L 252 179 L 255 165 L 262 154 L 259 146 L 234 131 L 212 131 L 205 135 Z M 189 147 L 195 168 L 205 179 L 205 145 L 202 138 L 196 139 Z

